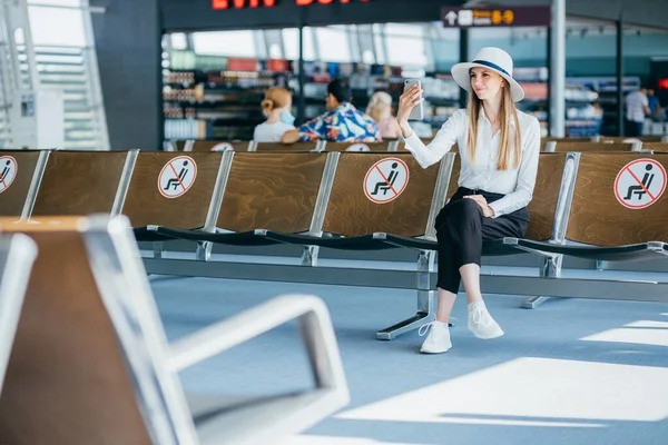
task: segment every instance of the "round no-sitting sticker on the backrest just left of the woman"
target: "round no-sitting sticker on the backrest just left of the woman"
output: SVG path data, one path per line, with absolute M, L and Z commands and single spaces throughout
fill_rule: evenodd
M 385 158 L 373 165 L 364 178 L 370 201 L 386 204 L 396 199 L 409 185 L 409 166 L 399 158 Z

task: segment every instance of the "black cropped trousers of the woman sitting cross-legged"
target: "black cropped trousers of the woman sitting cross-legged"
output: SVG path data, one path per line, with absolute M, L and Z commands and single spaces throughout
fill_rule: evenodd
M 436 286 L 453 294 L 459 291 L 461 283 L 459 268 L 472 263 L 480 266 L 482 241 L 503 237 L 522 238 L 529 227 L 527 207 L 498 218 L 485 218 L 475 201 L 464 199 L 466 195 L 482 195 L 490 204 L 503 197 L 499 194 L 460 187 L 436 217 L 439 241 Z

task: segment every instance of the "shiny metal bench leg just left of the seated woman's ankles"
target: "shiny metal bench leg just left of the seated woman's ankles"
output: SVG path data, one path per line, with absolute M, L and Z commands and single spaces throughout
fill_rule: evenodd
M 392 325 L 376 333 L 376 339 L 391 340 L 409 330 L 418 329 L 425 323 L 432 322 L 436 314 L 436 291 L 430 290 L 431 273 L 434 270 L 434 253 L 425 250 L 418 258 L 418 312 L 411 318 Z

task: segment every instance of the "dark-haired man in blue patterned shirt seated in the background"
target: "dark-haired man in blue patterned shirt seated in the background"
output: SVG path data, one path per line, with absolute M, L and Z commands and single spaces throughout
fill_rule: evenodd
M 327 85 L 327 112 L 299 128 L 286 131 L 281 141 L 294 144 L 327 140 L 330 142 L 376 142 L 381 140 L 379 126 L 351 103 L 351 87 L 343 80 Z

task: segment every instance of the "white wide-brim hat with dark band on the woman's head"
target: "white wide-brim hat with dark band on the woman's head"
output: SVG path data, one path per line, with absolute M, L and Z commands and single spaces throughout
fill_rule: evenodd
M 512 58 L 501 48 L 488 47 L 481 49 L 471 62 L 456 63 L 452 67 L 452 77 L 454 81 L 471 92 L 471 68 L 488 68 L 498 72 L 510 86 L 510 97 L 513 102 L 519 102 L 524 98 L 522 87 L 512 78 Z

